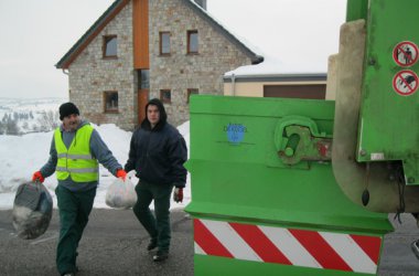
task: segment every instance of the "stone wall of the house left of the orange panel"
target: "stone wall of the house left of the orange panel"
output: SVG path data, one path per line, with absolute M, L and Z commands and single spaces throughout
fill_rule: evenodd
M 117 59 L 103 57 L 104 35 L 117 35 Z M 133 129 L 137 124 L 136 74 L 132 59 L 132 6 L 127 4 L 68 68 L 69 100 L 95 124 Z M 118 113 L 105 113 L 104 92 L 118 92 Z

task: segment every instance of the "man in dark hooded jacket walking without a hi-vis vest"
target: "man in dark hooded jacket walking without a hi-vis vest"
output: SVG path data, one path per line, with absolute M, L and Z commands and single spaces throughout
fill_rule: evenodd
M 154 262 L 164 261 L 170 247 L 170 195 L 183 200 L 186 182 L 186 144 L 181 134 L 166 123 L 163 104 L 151 99 L 146 106 L 146 118 L 131 138 L 126 171 L 136 170 L 140 179 L 136 187 L 138 201 L 133 212 L 150 234 L 148 251 L 158 247 Z M 154 215 L 149 205 L 154 200 Z

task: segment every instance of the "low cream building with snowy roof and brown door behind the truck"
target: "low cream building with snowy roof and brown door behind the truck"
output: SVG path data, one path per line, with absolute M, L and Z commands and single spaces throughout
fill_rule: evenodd
M 226 96 L 334 99 L 330 96 L 330 87 L 332 84 L 327 83 L 325 72 L 292 67 L 270 57 L 224 75 Z

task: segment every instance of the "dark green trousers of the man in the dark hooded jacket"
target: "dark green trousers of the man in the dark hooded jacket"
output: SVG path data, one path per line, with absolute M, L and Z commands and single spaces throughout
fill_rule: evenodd
M 170 195 L 173 185 L 138 182 L 136 185 L 137 203 L 133 213 L 142 226 L 157 241 L 159 251 L 169 252 L 170 247 Z M 154 200 L 154 215 L 150 211 L 151 201 Z

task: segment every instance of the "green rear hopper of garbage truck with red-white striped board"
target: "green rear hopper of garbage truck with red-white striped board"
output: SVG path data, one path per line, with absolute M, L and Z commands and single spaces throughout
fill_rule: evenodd
M 334 102 L 191 97 L 195 275 L 374 275 L 387 214 L 333 177 Z

